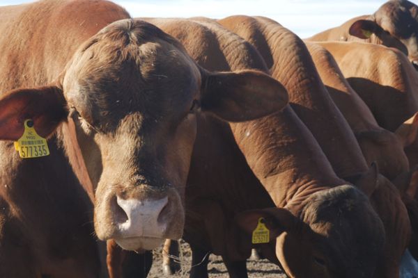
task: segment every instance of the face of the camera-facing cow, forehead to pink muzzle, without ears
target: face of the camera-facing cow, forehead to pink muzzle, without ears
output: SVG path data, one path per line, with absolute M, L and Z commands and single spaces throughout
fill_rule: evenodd
M 126 249 L 152 249 L 183 234 L 201 89 L 199 68 L 177 43 L 146 39 L 146 31 L 155 31 L 149 26 L 127 26 L 125 34 L 104 29 L 75 55 L 63 78 L 96 186 L 96 234 Z

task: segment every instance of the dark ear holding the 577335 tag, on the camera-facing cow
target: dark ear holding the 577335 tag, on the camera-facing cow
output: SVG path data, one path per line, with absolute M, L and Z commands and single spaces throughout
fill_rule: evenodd
M 46 138 L 66 119 L 67 104 L 56 86 L 17 89 L 0 99 L 0 140 L 17 140 L 24 132 L 24 120 L 33 120 L 36 132 Z

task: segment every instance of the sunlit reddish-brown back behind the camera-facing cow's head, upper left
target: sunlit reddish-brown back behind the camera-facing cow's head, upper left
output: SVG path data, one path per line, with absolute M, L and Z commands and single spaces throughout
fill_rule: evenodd
M 55 81 L 82 42 L 128 17 L 120 6 L 101 0 L 1 7 L 0 91 Z

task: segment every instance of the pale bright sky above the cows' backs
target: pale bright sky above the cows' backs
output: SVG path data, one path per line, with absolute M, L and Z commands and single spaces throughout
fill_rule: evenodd
M 0 0 L 0 6 L 32 0 Z M 376 11 L 385 0 L 114 0 L 132 17 L 211 17 L 262 15 L 301 38 Z M 418 0 L 412 0 L 418 4 Z

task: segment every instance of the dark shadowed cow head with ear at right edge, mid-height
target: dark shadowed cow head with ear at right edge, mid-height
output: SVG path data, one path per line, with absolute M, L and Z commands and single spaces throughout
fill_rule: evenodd
M 409 171 L 408 157 L 403 150 L 417 138 L 418 113 L 404 122 L 394 133 L 385 129 L 355 133 L 367 163 L 376 162 L 379 171 L 392 180 Z

